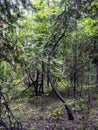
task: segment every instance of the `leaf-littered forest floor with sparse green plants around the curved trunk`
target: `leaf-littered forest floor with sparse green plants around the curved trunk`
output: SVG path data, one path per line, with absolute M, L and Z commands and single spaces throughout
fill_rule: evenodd
M 23 130 L 98 130 L 98 98 L 89 107 L 78 98 L 67 98 L 74 113 L 74 121 L 69 121 L 64 105 L 52 92 L 38 97 L 27 95 L 11 103 Z

